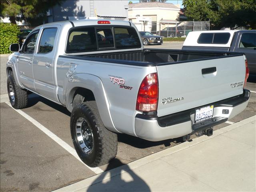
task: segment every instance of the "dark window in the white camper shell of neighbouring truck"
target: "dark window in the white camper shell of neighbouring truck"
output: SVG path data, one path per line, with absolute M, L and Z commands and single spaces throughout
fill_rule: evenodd
M 198 44 L 227 44 L 230 33 L 202 33 L 197 42 Z

